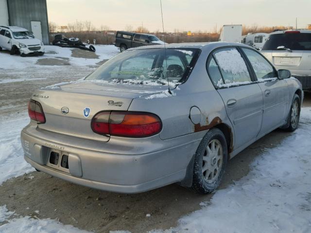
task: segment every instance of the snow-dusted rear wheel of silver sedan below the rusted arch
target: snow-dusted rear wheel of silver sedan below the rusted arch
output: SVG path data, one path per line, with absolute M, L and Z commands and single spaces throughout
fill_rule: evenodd
M 227 160 L 224 133 L 217 128 L 209 130 L 195 153 L 191 188 L 200 194 L 215 191 L 225 174 Z

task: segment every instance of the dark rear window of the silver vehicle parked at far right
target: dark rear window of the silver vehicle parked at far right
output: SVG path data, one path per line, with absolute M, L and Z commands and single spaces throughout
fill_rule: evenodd
M 262 50 L 277 50 L 279 46 L 284 46 L 290 50 L 311 50 L 311 33 L 272 34 Z

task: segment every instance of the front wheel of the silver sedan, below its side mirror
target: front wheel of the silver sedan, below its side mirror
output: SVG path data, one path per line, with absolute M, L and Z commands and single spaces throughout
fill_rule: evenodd
M 287 128 L 283 128 L 284 130 L 289 131 L 289 132 L 294 132 L 298 128 L 300 110 L 301 110 L 300 105 L 301 105 L 301 102 L 300 102 L 299 96 L 297 94 L 294 94 L 291 109 L 288 115 L 289 126 Z

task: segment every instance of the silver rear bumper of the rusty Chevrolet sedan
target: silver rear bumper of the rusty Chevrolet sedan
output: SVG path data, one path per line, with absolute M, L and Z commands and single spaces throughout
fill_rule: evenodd
M 32 134 L 31 132 L 35 132 L 32 127 L 27 126 L 23 129 L 21 143 L 25 160 L 33 167 L 72 183 L 119 193 L 139 193 L 182 181 L 201 141 L 194 139 L 193 135 L 185 135 L 165 140 L 168 142 L 164 145 L 163 140 L 156 135 L 152 140 L 157 141 L 157 145 L 153 145 L 156 145 L 158 150 L 143 154 L 139 154 L 138 151 L 137 154 L 124 151 L 121 154 L 88 148 L 87 142 L 80 148 L 60 144 L 48 134 L 45 137 Z M 102 146 L 105 144 L 97 143 Z M 113 142 L 110 140 L 107 143 Z M 67 172 L 48 165 L 51 148 L 69 153 Z

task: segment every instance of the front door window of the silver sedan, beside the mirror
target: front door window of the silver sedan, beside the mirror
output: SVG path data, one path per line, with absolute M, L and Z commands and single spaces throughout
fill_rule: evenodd
M 274 68 L 258 52 L 246 48 L 242 48 L 242 50 L 250 61 L 258 81 L 277 77 Z

